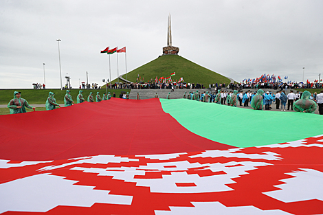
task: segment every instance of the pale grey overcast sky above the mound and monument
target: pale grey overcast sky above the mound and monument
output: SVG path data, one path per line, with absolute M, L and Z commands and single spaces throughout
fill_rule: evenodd
M 323 1 L 0 1 L 0 88 L 60 88 L 71 77 L 102 84 L 109 78 L 106 47 L 119 73 L 162 54 L 167 17 L 179 55 L 241 81 L 263 73 L 302 81 L 323 76 Z M 111 78 L 117 54 L 111 55 Z M 152 77 L 153 78 L 153 77 Z M 185 77 L 183 77 L 185 80 Z

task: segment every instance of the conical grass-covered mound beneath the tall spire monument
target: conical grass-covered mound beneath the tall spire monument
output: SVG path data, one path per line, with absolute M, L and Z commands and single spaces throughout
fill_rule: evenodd
M 158 78 L 161 76 L 168 78 L 173 72 L 175 72 L 176 75 L 172 76 L 172 80 L 183 78 L 184 82 L 204 84 L 205 87 L 207 87 L 208 84 L 216 82 L 230 83 L 228 78 L 221 76 L 219 73 L 201 67 L 200 65 L 177 55 L 159 56 L 157 59 L 127 73 L 122 76 L 122 78 L 127 78 L 132 82 L 136 82 L 136 78 L 139 74 L 141 78 L 144 78 L 145 82 L 148 82 L 151 78 L 155 80 L 156 76 Z M 115 80 L 113 80 L 113 82 L 114 81 Z

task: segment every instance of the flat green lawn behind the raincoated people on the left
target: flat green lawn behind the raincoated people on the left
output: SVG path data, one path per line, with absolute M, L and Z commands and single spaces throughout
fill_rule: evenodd
M 71 97 L 76 103 L 76 96 L 78 95 L 78 91 L 80 89 L 71 89 Z M 0 104 L 8 104 L 12 98 L 14 98 L 15 89 L 0 89 Z M 58 104 L 64 104 L 64 96 L 66 94 L 65 90 L 60 89 L 21 89 L 18 90 L 21 92 L 21 98 L 27 100 L 29 104 L 45 104 L 48 93 L 55 93 L 56 102 Z M 82 89 L 83 97 L 87 100 L 89 93 L 92 92 L 93 95 L 96 95 L 97 92 L 100 92 L 100 96 L 102 98 L 103 93 L 106 93 L 106 89 Z M 130 89 L 108 89 L 108 92 L 115 93 L 116 97 L 119 98 L 119 94 L 121 91 L 126 91 L 130 93 Z M 96 100 L 94 98 L 94 100 Z

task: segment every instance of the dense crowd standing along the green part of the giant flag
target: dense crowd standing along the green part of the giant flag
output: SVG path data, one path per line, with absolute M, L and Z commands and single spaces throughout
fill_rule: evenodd
M 209 93 L 204 91 L 200 93 L 197 91 L 185 92 L 183 98 L 189 100 L 196 100 L 199 102 L 214 102 L 216 104 L 227 104 L 229 106 L 252 106 L 254 110 L 270 110 L 273 109 L 272 104 L 276 104 L 276 109 L 281 111 L 286 111 L 291 109 L 291 111 L 298 111 L 302 113 L 314 113 L 319 107 L 318 111 L 320 115 L 323 115 L 323 90 L 318 93 L 310 93 L 309 91 L 304 91 L 300 93 L 297 91 L 286 95 L 284 90 L 278 90 L 276 93 L 271 91 L 263 91 L 263 89 L 258 89 L 258 91 L 225 91 L 223 89 L 218 89 L 217 93 Z

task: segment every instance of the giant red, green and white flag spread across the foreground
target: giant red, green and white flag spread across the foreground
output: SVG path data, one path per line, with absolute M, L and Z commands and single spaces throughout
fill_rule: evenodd
M 323 214 L 322 131 L 183 99 L 0 115 L 0 214 Z

